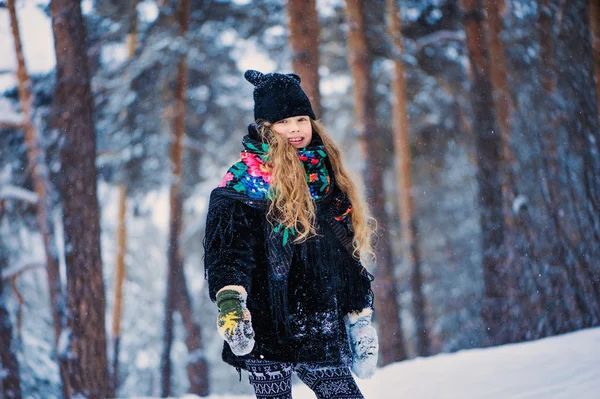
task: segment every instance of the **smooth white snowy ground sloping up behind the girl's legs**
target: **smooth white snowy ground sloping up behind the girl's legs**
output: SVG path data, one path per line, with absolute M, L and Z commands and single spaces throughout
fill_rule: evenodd
M 243 379 L 243 381 L 247 379 Z M 600 328 L 534 342 L 418 358 L 358 380 L 367 399 L 600 398 Z M 294 399 L 313 399 L 299 383 Z M 182 399 L 192 399 L 185 396 Z M 211 396 L 210 399 L 251 399 Z

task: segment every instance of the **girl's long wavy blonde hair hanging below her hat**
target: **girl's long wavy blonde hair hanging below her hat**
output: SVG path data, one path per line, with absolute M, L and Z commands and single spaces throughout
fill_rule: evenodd
M 368 208 L 351 175 L 342 163 L 342 155 L 338 146 L 327 135 L 323 124 L 310 120 L 313 134 L 318 134 L 325 152 L 329 157 L 335 182 L 348 196 L 352 204 L 350 220 L 354 230 L 353 255 L 362 259 L 374 258 L 371 246 L 371 236 L 374 231 L 374 219 L 369 215 Z M 310 195 L 307 184 L 298 184 L 306 181 L 306 174 L 302 162 L 298 158 L 296 148 L 288 143 L 281 135 L 271 129 L 271 124 L 265 121 L 256 121 L 262 139 L 269 145 L 267 157 L 272 176 L 270 187 L 270 206 L 267 219 L 272 223 L 276 221 L 295 232 L 294 242 L 302 242 L 316 235 L 315 202 Z

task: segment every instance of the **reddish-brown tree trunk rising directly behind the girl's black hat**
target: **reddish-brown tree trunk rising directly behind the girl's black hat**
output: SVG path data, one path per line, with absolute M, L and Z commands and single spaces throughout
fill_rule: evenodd
M 322 118 L 319 91 L 319 14 L 315 0 L 289 0 L 289 42 L 292 48 L 292 67 L 302 78 L 302 88 L 310 99 L 317 118 Z

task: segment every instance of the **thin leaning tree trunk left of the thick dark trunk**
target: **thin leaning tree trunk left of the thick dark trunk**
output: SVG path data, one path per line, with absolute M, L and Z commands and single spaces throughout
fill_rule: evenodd
M 63 304 L 63 300 L 58 256 L 56 254 L 52 229 L 48 220 L 48 210 L 50 209 L 50 200 L 47 194 L 49 187 L 48 168 L 46 166 L 44 151 L 39 147 L 40 135 L 32 120 L 33 95 L 31 93 L 31 79 L 27 73 L 25 58 L 23 57 L 19 23 L 15 10 L 15 0 L 8 1 L 8 11 L 10 14 L 10 22 L 15 43 L 15 54 L 17 58 L 19 100 L 21 104 L 21 114 L 23 115 L 23 131 L 25 134 L 27 157 L 33 179 L 33 186 L 35 193 L 38 196 L 37 220 L 40 228 L 40 234 L 42 235 L 44 242 L 46 273 L 48 276 L 49 288 L 48 291 L 50 294 L 50 307 L 52 309 L 52 324 L 54 326 L 54 348 L 56 351 L 56 345 L 58 343 L 58 338 L 62 328 L 63 315 L 61 314 L 61 306 Z

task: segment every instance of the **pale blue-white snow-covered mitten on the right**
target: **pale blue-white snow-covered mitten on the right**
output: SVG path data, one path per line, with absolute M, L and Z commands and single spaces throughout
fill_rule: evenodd
M 352 349 L 352 371 L 358 378 L 371 378 L 377 367 L 379 342 L 371 325 L 371 308 L 350 313 L 346 318 L 348 338 Z

